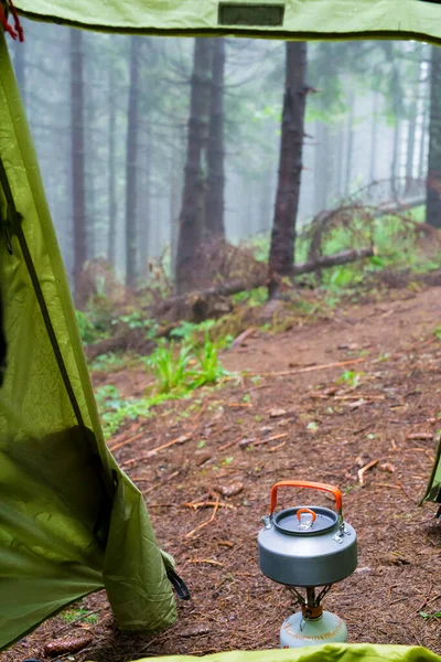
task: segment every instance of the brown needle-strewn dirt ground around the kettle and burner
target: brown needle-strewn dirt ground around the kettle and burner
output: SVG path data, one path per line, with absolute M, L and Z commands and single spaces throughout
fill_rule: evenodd
M 109 446 L 143 433 L 115 456 L 143 491 L 160 544 L 173 554 L 192 599 L 179 604 L 173 628 L 148 637 L 119 633 L 105 594 L 92 596 L 83 605 L 98 610 L 98 622 L 73 623 L 63 634 L 86 627 L 94 643 L 68 660 L 278 647 L 293 606 L 288 590 L 260 573 L 257 534 L 271 485 L 281 479 L 329 482 L 343 492 L 345 519 L 358 534 L 358 568 L 333 587 L 325 608 L 345 619 L 348 640 L 421 644 L 441 654 L 441 620 L 419 613 L 441 611 L 441 526 L 435 504 L 418 505 L 441 428 L 441 340 L 433 333 L 440 292 L 395 292 L 380 303 L 341 309 L 332 320 L 250 335 L 222 356 L 247 376 L 165 404 L 112 439 Z M 300 372 L 305 367 L 316 370 Z M 355 380 L 338 382 L 345 370 Z M 146 378 L 133 370 L 95 382 L 139 395 Z M 137 460 L 183 435 L 187 441 Z M 246 439 L 255 446 L 247 448 Z M 361 484 L 358 471 L 370 461 Z M 216 492 L 225 488 L 243 489 Z M 197 528 L 214 509 L 187 504 L 218 499 L 214 520 Z M 280 501 L 331 505 L 320 493 L 293 490 L 281 491 Z M 43 643 L 61 628 L 61 617 L 51 619 L 1 659 L 42 659 Z

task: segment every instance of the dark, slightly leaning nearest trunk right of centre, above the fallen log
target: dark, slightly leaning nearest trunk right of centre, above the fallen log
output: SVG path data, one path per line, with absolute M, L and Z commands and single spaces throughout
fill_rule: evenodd
M 300 197 L 304 107 L 306 96 L 306 44 L 287 42 L 286 83 L 280 141 L 279 181 L 269 255 L 270 297 L 278 291 L 280 277 L 292 273 L 295 221 Z

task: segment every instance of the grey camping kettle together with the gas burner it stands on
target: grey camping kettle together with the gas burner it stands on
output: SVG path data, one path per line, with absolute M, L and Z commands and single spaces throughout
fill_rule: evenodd
M 277 491 L 281 487 L 331 492 L 337 512 L 298 505 L 275 514 Z M 332 585 L 357 567 L 357 535 L 343 520 L 338 488 L 298 480 L 278 482 L 271 489 L 270 514 L 262 521 L 258 536 L 260 569 L 270 579 L 286 585 L 301 606 L 301 611 L 290 616 L 280 629 L 281 648 L 346 641 L 345 622 L 322 606 Z M 305 589 L 305 597 L 299 588 Z

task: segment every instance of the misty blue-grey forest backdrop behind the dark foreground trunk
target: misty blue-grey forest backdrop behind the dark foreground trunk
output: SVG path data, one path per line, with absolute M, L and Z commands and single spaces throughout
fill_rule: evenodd
M 283 98 L 287 86 L 299 85 L 287 78 L 290 66 L 305 88 L 295 119 L 303 140 L 291 173 L 292 236 L 295 225 L 299 233 L 358 192 L 375 204 L 399 196 L 418 206 L 428 197 L 427 223 L 441 225 L 439 196 L 426 185 L 441 149 L 429 114 L 441 64 L 430 45 L 357 41 L 306 50 L 31 22 L 25 32 L 12 46 L 13 65 L 73 288 L 96 259 L 130 286 L 147 282 L 152 260 L 165 259 L 171 278 L 179 276 L 176 291 L 187 291 L 205 241 L 269 237 Z M 80 299 L 77 292 L 78 307 Z

